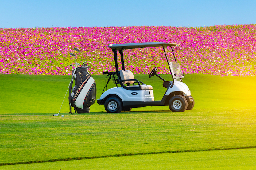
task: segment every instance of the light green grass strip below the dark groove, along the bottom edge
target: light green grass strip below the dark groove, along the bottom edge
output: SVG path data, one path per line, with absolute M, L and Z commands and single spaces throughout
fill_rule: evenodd
M 0 166 L 0 169 L 255 169 L 256 149 L 216 150 Z

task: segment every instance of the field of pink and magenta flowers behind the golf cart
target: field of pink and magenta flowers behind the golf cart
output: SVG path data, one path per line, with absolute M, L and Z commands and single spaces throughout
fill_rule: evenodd
M 174 53 L 184 73 L 256 76 L 255 24 L 0 28 L 0 73 L 70 75 L 69 65 L 76 61 L 87 61 L 91 74 L 114 72 L 113 52 L 107 46 L 142 42 L 181 44 L 174 47 Z M 126 68 L 134 74 L 148 74 L 155 66 L 159 73 L 169 72 L 162 48 L 124 50 L 124 56 Z

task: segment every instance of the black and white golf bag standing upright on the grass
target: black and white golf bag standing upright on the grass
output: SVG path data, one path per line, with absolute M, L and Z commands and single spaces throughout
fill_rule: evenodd
M 74 74 L 75 86 L 72 88 L 73 79 L 69 86 L 69 113 L 74 107 L 77 113 L 89 113 L 90 106 L 96 101 L 96 83 L 88 73 L 87 66 L 77 67 Z M 74 113 L 73 113 L 74 114 Z

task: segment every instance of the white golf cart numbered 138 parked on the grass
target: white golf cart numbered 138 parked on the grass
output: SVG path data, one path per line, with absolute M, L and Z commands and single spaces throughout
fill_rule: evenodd
M 184 74 L 181 72 L 180 65 L 177 63 L 174 52 L 173 57 L 175 62 L 169 62 L 166 55 L 167 46 L 180 46 L 175 43 L 130 43 L 130 44 L 110 44 L 108 47 L 112 49 L 114 53 L 115 69 L 116 72 L 104 72 L 114 79 L 116 87 L 106 89 L 97 100 L 99 105 L 104 105 L 108 113 L 130 111 L 135 107 L 145 106 L 167 106 L 173 112 L 184 112 L 185 110 L 191 110 L 194 107 L 194 99 L 191 96 L 188 86 L 182 82 Z M 149 74 L 149 78 L 157 76 L 163 81 L 163 87 L 167 88 L 161 101 L 154 100 L 153 87 L 146 85 L 141 81 L 134 78 L 133 73 L 130 70 L 125 69 L 123 50 L 135 49 L 135 48 L 147 48 L 147 47 L 162 47 L 164 54 L 169 65 L 169 69 L 172 76 L 172 81 L 166 81 L 157 74 L 157 67 Z M 122 70 L 118 70 L 118 57 L 117 51 L 120 53 Z M 106 83 L 106 86 L 107 86 Z M 120 86 L 118 86 L 120 84 Z M 105 86 L 105 87 L 106 87 Z M 104 89 L 105 89 L 104 87 Z M 104 91 L 103 89 L 103 91 Z

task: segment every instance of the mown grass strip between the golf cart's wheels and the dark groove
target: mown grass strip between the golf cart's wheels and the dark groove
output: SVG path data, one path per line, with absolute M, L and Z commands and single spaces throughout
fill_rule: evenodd
M 256 146 L 254 109 L 0 118 L 0 163 Z

